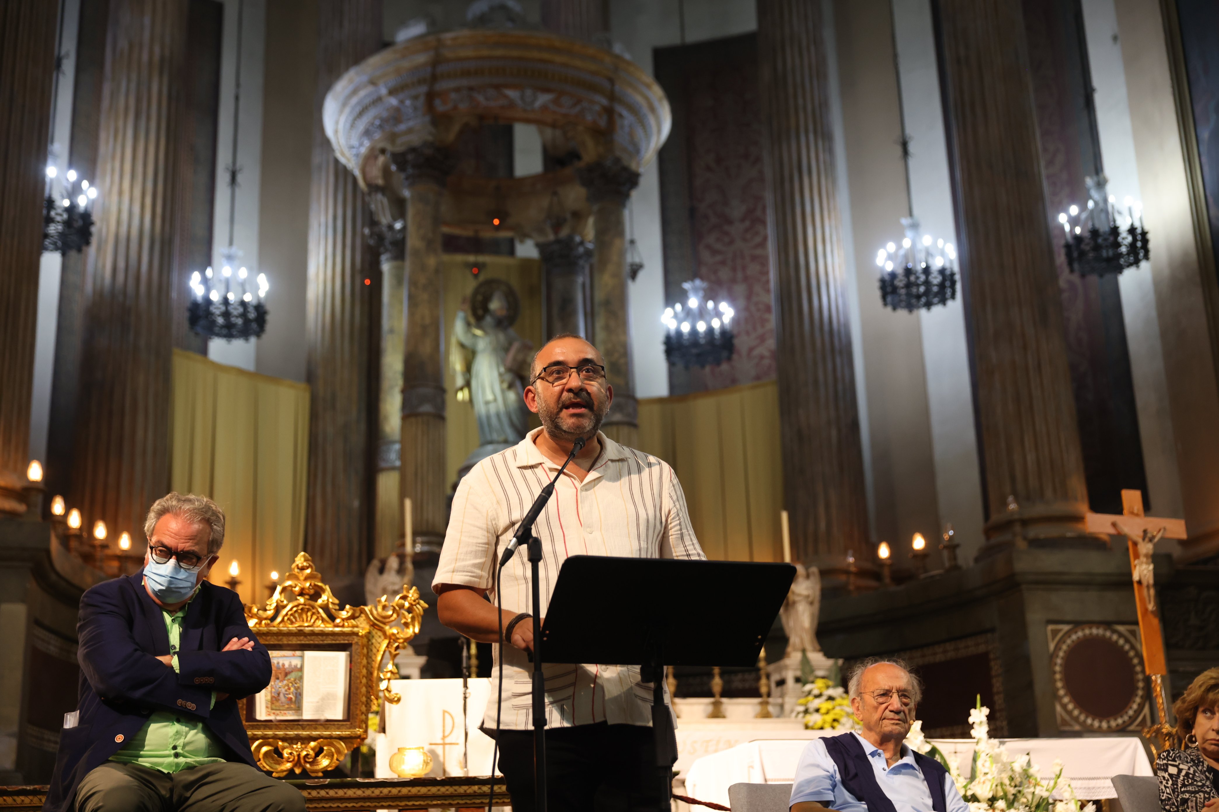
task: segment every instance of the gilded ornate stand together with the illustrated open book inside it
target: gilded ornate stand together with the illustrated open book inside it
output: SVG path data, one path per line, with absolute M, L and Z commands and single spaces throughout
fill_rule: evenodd
M 394 657 L 419 632 L 416 587 L 374 606 L 340 606 L 313 560 L 299 553 L 283 583 L 245 617 L 272 661 L 272 681 L 239 704 L 258 767 L 321 775 L 368 738 L 368 713 L 397 678 Z

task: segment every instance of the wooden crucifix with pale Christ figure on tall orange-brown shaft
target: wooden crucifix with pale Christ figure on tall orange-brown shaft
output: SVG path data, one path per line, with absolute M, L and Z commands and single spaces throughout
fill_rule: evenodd
M 1156 579 L 1152 553 L 1162 538 L 1186 538 L 1185 520 L 1145 516 L 1141 491 L 1121 491 L 1121 515 L 1087 514 L 1090 533 L 1125 536 L 1130 549 L 1130 575 L 1135 583 L 1135 605 L 1139 609 L 1139 637 L 1142 640 L 1143 670 L 1151 677 L 1156 695 L 1159 724 L 1143 729 L 1143 737 L 1157 752 L 1169 746 L 1173 728 L 1168 724 L 1164 696 L 1164 677 L 1168 662 L 1164 657 L 1164 637 L 1159 626 L 1159 605 L 1156 600 Z

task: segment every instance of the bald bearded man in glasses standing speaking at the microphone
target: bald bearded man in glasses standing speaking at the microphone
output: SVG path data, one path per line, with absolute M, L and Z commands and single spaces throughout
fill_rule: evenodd
M 524 399 L 541 429 L 462 478 L 432 584 L 445 626 L 499 643 L 502 621 L 506 645 L 496 646 L 482 727 L 491 735 L 500 729 L 499 767 L 512 808 L 522 812 L 534 808 L 535 797 L 524 549 L 501 575 L 502 617 L 495 569 L 534 498 L 583 439 L 534 525 L 544 605 L 569 555 L 706 559 L 673 469 L 601 433 L 613 387 L 596 347 L 573 335 L 552 338 L 534 357 Z M 545 677 L 549 810 L 668 810 L 651 730 L 652 684 L 641 681 L 639 667 L 546 665 Z

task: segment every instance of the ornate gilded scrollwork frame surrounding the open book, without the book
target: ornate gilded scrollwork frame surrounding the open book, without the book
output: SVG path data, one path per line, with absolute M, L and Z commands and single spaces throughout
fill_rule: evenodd
M 340 609 L 330 588 L 313 570 L 313 560 L 306 553 L 297 554 L 266 605 L 246 605 L 246 622 L 268 649 L 350 646 L 347 718 L 255 719 L 254 698 L 246 698 L 239 709 L 258 767 L 280 778 L 301 771 L 318 777 L 339 766 L 347 752 L 368 738 L 373 701 L 379 705 L 384 699 L 396 705 L 401 699 L 389 690 L 389 681 L 397 678 L 394 657 L 418 634 L 427 607 L 419 600 L 419 590 L 403 584 L 396 597 L 383 595 L 375 606 Z

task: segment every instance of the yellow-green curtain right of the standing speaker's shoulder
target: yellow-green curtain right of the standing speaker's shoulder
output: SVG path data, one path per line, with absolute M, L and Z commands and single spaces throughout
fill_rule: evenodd
M 677 471 L 707 558 L 783 560 L 775 381 L 641 399 L 639 447 Z

